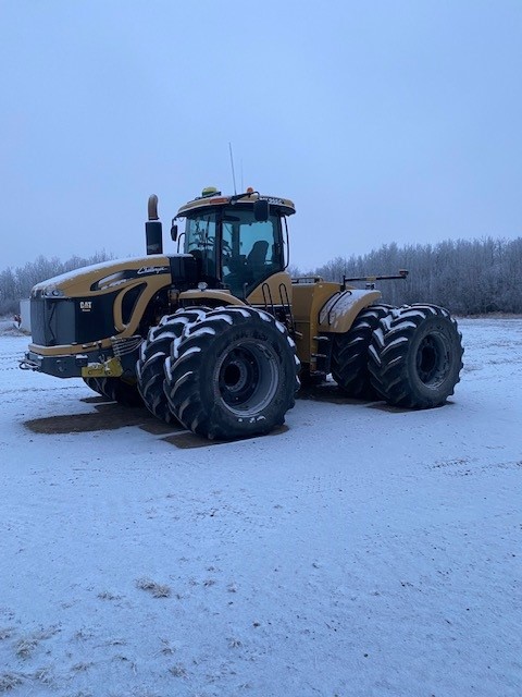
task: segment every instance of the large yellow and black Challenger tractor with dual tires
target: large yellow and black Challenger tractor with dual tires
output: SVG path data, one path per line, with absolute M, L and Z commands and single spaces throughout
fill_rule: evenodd
M 352 398 L 444 404 L 462 368 L 455 319 L 435 305 L 382 304 L 375 281 L 406 271 L 362 279 L 364 289 L 350 284 L 361 279 L 291 279 L 295 211 L 291 200 L 252 188 L 224 196 L 208 187 L 179 208 L 177 253 L 164 254 L 151 196 L 147 256 L 33 289 L 33 343 L 21 367 L 80 377 L 210 439 L 268 433 L 284 423 L 300 381 L 328 374 Z

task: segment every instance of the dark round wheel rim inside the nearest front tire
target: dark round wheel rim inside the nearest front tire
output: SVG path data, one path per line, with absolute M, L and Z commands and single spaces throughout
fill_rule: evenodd
M 216 365 L 219 399 L 237 416 L 254 416 L 277 390 L 278 364 L 271 346 L 240 341 Z

